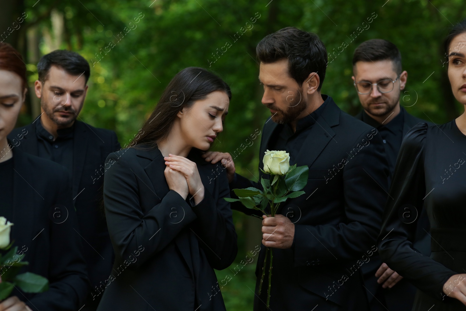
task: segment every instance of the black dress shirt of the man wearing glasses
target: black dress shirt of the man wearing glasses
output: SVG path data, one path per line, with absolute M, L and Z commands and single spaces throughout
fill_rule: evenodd
M 382 135 L 391 180 L 403 140 L 404 109 L 401 109 L 397 116 L 387 124 L 378 123 L 375 119 L 370 117 L 366 111 L 363 111 L 363 122 L 375 127 Z

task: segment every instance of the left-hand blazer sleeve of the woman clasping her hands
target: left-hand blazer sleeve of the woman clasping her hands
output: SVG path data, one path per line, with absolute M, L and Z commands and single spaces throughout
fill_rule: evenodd
M 130 156 L 128 151 L 126 155 Z M 136 168 L 130 165 L 125 156 L 119 158 L 113 152 L 105 161 L 111 163 L 111 167 L 103 179 L 103 201 L 110 240 L 117 258 L 129 260 L 133 252 L 143 247 L 138 260 L 128 266 L 128 269 L 137 269 L 194 221 L 196 214 L 181 195 L 170 190 L 144 215 L 139 202 L 139 177 L 134 171 Z M 137 162 L 137 159 L 131 162 Z M 185 211 L 182 221 L 173 223 L 172 207 L 182 207 Z

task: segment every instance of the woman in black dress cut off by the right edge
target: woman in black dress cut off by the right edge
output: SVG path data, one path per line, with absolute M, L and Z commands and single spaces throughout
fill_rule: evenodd
M 453 95 L 466 107 L 466 20 L 445 40 Z M 419 123 L 404 138 L 378 238 L 380 256 L 418 292 L 413 310 L 466 310 L 466 112 L 441 125 Z M 427 208 L 430 257 L 412 248 Z

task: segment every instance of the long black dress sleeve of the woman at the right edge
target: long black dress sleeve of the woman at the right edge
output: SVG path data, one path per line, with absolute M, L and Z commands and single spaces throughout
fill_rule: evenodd
M 443 285 L 457 273 L 413 249 L 411 241 L 416 233 L 416 222 L 408 221 L 408 216 L 421 214 L 426 195 L 424 152 L 427 127 L 426 123 L 414 126 L 403 140 L 377 242 L 380 256 L 392 270 L 420 290 L 440 299 Z

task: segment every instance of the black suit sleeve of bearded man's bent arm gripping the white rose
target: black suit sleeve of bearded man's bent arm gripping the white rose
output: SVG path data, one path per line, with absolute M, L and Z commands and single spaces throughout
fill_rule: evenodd
M 372 139 L 368 139 L 370 135 Z M 353 147 L 358 152 L 347 158 L 343 168 L 342 209 L 346 221 L 315 226 L 296 224 L 295 266 L 317 259 L 322 263 L 354 262 L 375 247 L 388 189 L 384 146 L 380 134 L 372 129 L 357 138 Z

